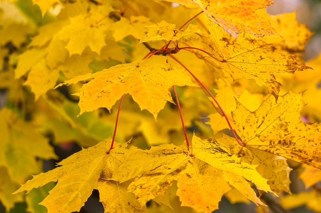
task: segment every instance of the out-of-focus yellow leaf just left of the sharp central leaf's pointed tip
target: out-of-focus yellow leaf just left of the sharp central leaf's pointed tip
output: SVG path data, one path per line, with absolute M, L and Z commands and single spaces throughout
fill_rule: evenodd
M 89 48 L 85 48 L 81 55 L 67 56 L 68 52 L 61 40 L 54 37 L 48 46 L 32 48 L 19 55 L 14 70 L 15 78 L 22 77 L 30 70 L 24 84 L 31 87 L 37 100 L 49 89 L 54 88 L 59 72 L 62 71 L 67 78 L 92 72 L 88 64 L 92 62 L 94 53 Z

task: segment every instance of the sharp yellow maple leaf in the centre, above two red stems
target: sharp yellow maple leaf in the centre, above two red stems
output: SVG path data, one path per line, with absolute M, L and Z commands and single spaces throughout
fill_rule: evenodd
M 173 86 L 196 86 L 184 70 L 166 62 L 167 57 L 153 56 L 148 59 L 119 64 L 101 72 L 78 76 L 66 85 L 93 79 L 83 85 L 77 95 L 82 114 L 99 107 L 111 109 L 123 94 L 129 93 L 141 109 L 147 109 L 156 118 L 167 101 L 172 102 L 168 89 Z M 59 84 L 61 86 L 63 84 Z

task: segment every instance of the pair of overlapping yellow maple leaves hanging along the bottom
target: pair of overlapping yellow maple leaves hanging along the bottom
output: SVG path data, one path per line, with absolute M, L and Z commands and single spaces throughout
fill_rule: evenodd
M 34 176 L 16 193 L 58 181 L 41 203 L 51 213 L 78 211 L 93 189 L 99 190 L 105 212 L 146 212 L 146 202 L 164 196 L 174 180 L 182 204 L 204 212 L 217 209 L 221 197 L 234 187 L 260 205 L 264 203 L 250 183 L 271 192 L 256 166 L 241 162 L 213 138 L 194 136 L 190 150 L 186 145 L 169 144 L 138 150 L 123 144 L 108 153 L 110 142 L 107 139 L 68 157 L 54 170 Z

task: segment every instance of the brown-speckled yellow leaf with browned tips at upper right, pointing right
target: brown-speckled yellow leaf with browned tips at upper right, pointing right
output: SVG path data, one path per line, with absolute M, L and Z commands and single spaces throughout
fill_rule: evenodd
M 209 46 L 210 59 L 234 80 L 243 77 L 254 79 L 259 86 L 265 85 L 270 92 L 278 94 L 280 84 L 276 82 L 274 73 L 294 73 L 309 68 L 298 63 L 292 55 L 276 53 L 273 44 L 249 34 L 235 40 L 214 23 L 210 23 L 209 31 L 210 37 L 200 37 Z

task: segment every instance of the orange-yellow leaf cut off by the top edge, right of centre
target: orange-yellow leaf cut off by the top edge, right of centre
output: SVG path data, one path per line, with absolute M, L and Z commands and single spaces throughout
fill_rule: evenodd
M 214 23 L 217 23 L 234 38 L 243 32 L 256 37 L 275 33 L 269 15 L 265 10 L 262 10 L 272 5 L 272 0 L 191 0 L 191 2 L 197 4 Z

